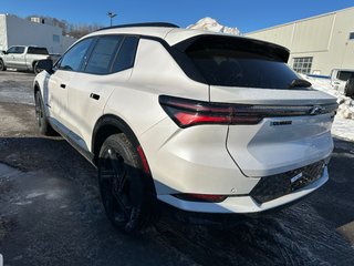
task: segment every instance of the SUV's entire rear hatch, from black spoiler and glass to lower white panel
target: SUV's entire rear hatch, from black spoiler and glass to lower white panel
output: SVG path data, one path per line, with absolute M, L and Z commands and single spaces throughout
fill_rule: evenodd
M 274 175 L 330 156 L 336 99 L 301 80 L 287 64 L 287 49 L 220 35 L 178 45 L 209 84 L 210 102 L 229 104 L 231 115 L 241 117 L 229 124 L 226 149 L 246 176 Z

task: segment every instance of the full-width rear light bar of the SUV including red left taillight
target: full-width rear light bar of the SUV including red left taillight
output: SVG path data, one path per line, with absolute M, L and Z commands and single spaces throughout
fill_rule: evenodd
M 264 117 L 314 115 L 335 112 L 337 103 L 305 106 L 214 103 L 159 96 L 159 104 L 179 127 L 198 124 L 258 124 Z M 315 113 L 313 113 L 315 111 Z

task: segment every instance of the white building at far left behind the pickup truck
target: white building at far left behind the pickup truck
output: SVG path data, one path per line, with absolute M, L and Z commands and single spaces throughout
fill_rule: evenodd
M 76 41 L 74 38 L 64 37 L 61 28 L 42 22 L 0 14 L 0 50 L 12 45 L 39 45 L 45 47 L 50 53 L 63 53 Z

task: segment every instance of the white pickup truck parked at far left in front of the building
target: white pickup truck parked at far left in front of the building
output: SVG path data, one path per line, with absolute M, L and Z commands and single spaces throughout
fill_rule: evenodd
M 8 51 L 0 54 L 0 71 L 9 69 L 33 71 L 35 74 L 41 72 L 38 61 L 50 59 L 46 48 L 41 47 L 10 47 Z

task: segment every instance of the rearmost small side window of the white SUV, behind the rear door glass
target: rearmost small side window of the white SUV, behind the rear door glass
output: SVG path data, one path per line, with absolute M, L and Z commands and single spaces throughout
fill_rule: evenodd
M 112 66 L 112 72 L 118 72 L 134 66 L 137 44 L 137 37 L 126 37 L 124 39 L 123 45 Z

